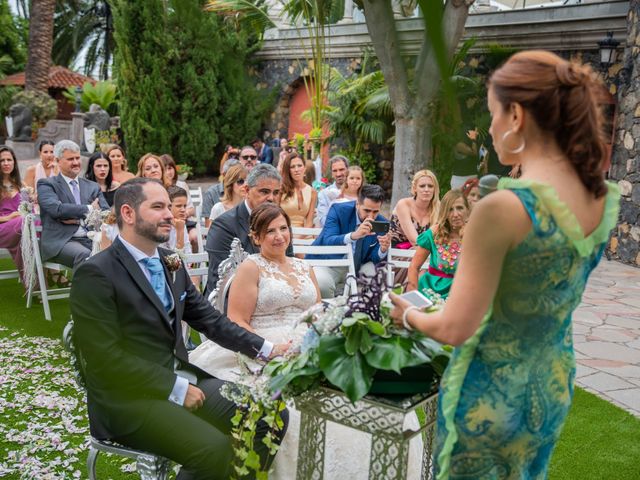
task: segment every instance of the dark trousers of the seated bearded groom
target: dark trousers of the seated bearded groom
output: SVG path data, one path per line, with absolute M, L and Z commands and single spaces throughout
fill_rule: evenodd
M 114 440 L 179 463 L 183 466 L 178 476 L 181 480 L 228 478 L 233 460 L 229 433 L 236 406 L 220 395 L 224 383 L 214 378 L 200 381 L 198 387 L 206 400 L 202 408 L 193 413 L 168 400 L 150 400 L 142 426 Z M 255 446 L 263 460 L 268 455 L 266 447 L 260 448 L 259 439 L 266 432 L 266 425 L 259 423 Z

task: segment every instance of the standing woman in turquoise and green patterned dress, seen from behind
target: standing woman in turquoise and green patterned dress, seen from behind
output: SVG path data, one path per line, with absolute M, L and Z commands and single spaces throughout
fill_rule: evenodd
M 449 299 L 392 316 L 456 346 L 440 387 L 436 478 L 543 479 L 571 406 L 571 315 L 617 221 L 590 68 L 520 52 L 492 75 L 490 133 L 519 179 L 473 208 Z

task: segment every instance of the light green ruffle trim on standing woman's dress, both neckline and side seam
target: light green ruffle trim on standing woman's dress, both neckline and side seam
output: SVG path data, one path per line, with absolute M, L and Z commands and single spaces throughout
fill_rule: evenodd
M 558 198 L 556 191 L 550 185 L 531 180 L 519 180 L 502 178 L 498 183 L 499 189 L 532 190 L 536 197 L 553 216 L 558 227 L 571 240 L 580 256 L 590 255 L 594 249 L 609 239 L 609 232 L 616 226 L 618 210 L 620 208 L 620 189 L 614 183 L 607 182 L 608 192 L 605 199 L 605 207 L 602 220 L 598 227 L 587 237 L 584 236 L 582 227 L 569 207 Z M 449 478 L 451 468 L 451 452 L 458 441 L 458 432 L 455 426 L 455 415 L 460 401 L 461 388 L 467 375 L 469 365 L 476 353 L 480 337 L 486 329 L 491 318 L 492 309 L 483 317 L 480 326 L 462 346 L 458 352 L 455 363 L 449 365 L 446 378 L 446 388 L 442 394 L 442 415 L 447 436 L 438 455 L 437 480 Z

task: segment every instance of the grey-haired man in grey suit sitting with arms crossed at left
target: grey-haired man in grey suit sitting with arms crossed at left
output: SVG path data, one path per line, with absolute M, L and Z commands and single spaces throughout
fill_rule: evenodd
M 54 261 L 74 269 L 91 255 L 91 239 L 81 224 L 92 209 L 109 205 L 96 182 L 79 176 L 80 147 L 60 140 L 53 148 L 60 173 L 38 180 L 38 204 L 42 219 L 42 261 Z

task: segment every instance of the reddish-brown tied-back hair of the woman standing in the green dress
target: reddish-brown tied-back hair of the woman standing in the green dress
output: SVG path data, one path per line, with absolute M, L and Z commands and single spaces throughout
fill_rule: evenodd
M 606 149 L 598 105 L 602 85 L 589 66 L 542 50 L 520 52 L 491 75 L 489 88 L 505 110 L 520 104 L 540 130 L 553 135 L 596 198 L 606 194 L 602 172 Z

